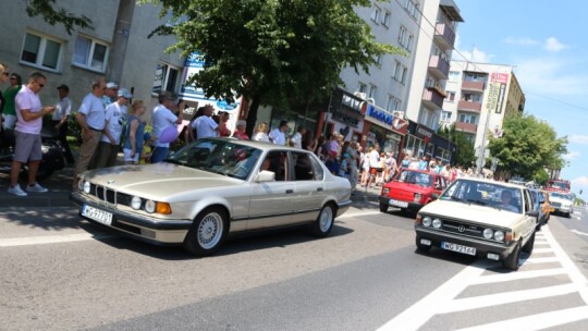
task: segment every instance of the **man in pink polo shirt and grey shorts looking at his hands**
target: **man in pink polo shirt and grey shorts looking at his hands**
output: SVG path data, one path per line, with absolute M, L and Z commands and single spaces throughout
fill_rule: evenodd
M 19 185 L 19 174 L 24 163 L 28 162 L 27 192 L 45 193 L 48 189 L 36 181 L 37 171 L 42 159 L 40 131 L 42 117 L 52 113 L 52 106 L 42 107 L 38 93 L 47 84 L 44 74 L 36 72 L 28 78 L 14 99 L 16 106 L 16 126 L 14 127 L 15 147 L 12 169 L 10 172 L 9 193 L 17 196 L 27 196 Z

